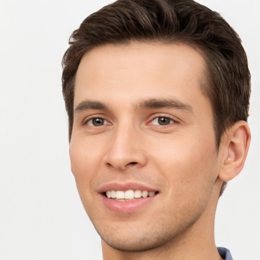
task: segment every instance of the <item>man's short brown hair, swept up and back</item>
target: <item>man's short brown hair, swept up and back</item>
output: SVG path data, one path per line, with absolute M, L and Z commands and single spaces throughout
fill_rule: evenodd
M 62 59 L 62 89 L 73 128 L 75 77 L 82 56 L 96 46 L 131 41 L 184 43 L 207 65 L 202 89 L 214 114 L 216 146 L 226 128 L 247 121 L 250 72 L 241 40 L 216 12 L 192 0 L 118 0 L 88 16 L 70 38 Z

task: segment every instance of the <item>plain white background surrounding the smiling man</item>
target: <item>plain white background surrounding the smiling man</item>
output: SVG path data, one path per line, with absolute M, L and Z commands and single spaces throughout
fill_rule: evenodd
M 0 0 L 0 259 L 102 259 L 70 172 L 61 58 L 71 32 L 109 0 Z M 252 142 L 219 201 L 216 244 L 260 260 L 260 0 L 200 0 L 237 30 L 252 75 Z M 203 250 L 203 248 L 202 248 Z

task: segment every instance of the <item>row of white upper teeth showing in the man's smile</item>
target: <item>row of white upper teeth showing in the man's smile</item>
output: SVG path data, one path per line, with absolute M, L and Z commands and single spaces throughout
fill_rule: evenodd
M 155 195 L 155 191 L 147 191 L 147 190 L 140 190 L 140 189 L 128 189 L 126 191 L 122 190 L 108 190 L 106 191 L 106 196 L 111 199 L 116 200 L 133 200 L 139 198 L 147 198 L 152 197 Z

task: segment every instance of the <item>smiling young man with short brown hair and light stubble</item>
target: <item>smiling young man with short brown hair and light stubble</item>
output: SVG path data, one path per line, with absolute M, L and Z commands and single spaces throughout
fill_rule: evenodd
M 71 168 L 108 259 L 232 259 L 214 217 L 250 143 L 247 58 L 191 0 L 122 0 L 63 57 Z

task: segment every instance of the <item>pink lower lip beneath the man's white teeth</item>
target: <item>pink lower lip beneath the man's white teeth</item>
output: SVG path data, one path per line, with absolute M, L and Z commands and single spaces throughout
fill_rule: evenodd
M 147 198 L 136 199 L 133 201 L 115 201 L 113 199 L 107 198 L 103 194 L 101 194 L 101 196 L 105 206 L 110 210 L 121 213 L 128 213 L 136 211 L 143 206 L 151 203 L 158 196 L 158 194 Z

